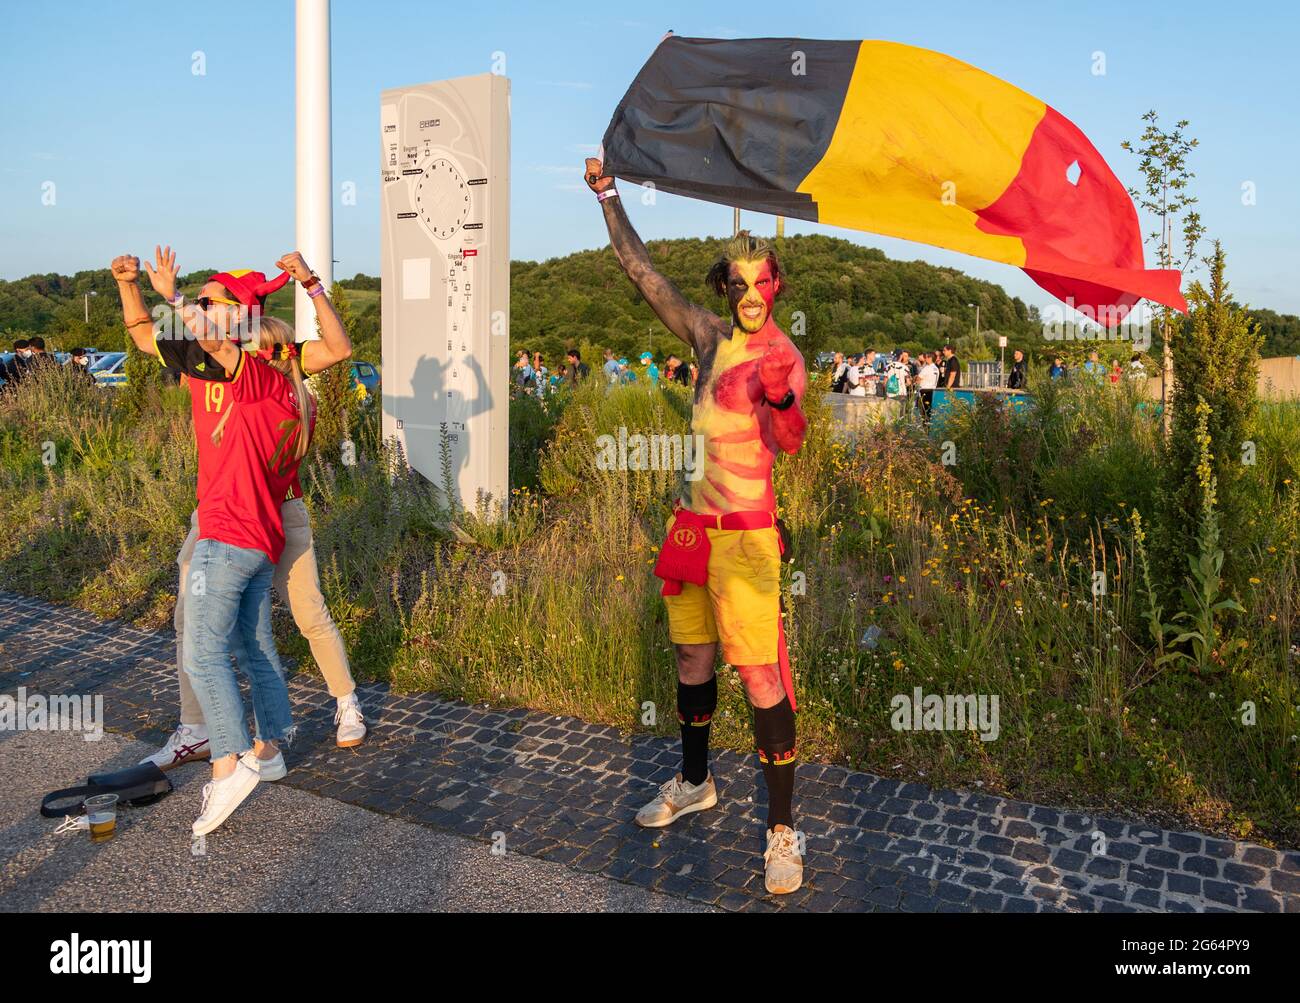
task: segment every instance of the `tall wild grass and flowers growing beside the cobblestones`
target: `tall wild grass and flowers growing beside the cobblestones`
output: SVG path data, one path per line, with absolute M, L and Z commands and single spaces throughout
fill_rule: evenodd
M 0 540 L 0 573 L 161 624 L 192 496 L 185 400 L 162 394 L 133 422 L 110 400 L 69 387 L 0 400 L 0 512 L 22 527 Z M 601 470 L 595 450 L 619 427 L 685 433 L 689 404 L 676 387 L 595 383 L 514 401 L 512 427 L 538 438 L 512 443 L 507 526 L 450 511 L 380 443 L 373 413 L 355 465 L 313 455 L 304 486 L 322 586 L 358 673 L 673 733 L 651 566 L 677 476 Z M 1019 418 L 976 408 L 945 426 L 957 464 L 944 465 L 942 443 L 914 427 L 850 442 L 809 403 L 805 447 L 775 473 L 809 755 L 1297 842 L 1297 412 L 1257 418 L 1257 525 L 1248 552 L 1230 555 L 1249 563 L 1248 589 L 1232 594 L 1244 612 L 1225 618 L 1202 670 L 1158 661 L 1135 526 L 1150 527 L 1160 439 L 1135 404 L 1075 386 Z M 46 439 L 66 446 L 53 468 L 34 452 Z M 1154 602 L 1164 621 L 1176 612 L 1165 594 Z M 277 625 L 309 667 L 291 621 Z M 723 669 L 720 682 L 718 739 L 749 748 L 738 679 Z M 997 695 L 997 741 L 893 730 L 892 698 L 916 686 Z

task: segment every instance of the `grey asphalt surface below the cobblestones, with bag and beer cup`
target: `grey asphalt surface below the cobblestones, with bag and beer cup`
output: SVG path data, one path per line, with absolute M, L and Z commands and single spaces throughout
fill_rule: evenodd
M 172 770 L 176 791 L 120 813 L 109 843 L 56 835 L 57 820 L 40 816 L 48 791 L 151 751 L 114 734 L 0 733 L 0 912 L 710 911 L 276 783 L 195 855 L 205 764 Z

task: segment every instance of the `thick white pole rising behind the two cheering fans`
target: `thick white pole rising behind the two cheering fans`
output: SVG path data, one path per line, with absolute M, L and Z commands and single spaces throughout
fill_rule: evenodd
M 329 288 L 334 282 L 329 0 L 296 3 L 298 249 Z M 300 339 L 316 336 L 316 311 L 302 286 L 294 294 L 294 326 Z

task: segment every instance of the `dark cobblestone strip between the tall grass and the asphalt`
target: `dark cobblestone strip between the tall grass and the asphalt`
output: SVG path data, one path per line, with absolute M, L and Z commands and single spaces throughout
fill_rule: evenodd
M 0 695 L 101 694 L 108 730 L 161 743 L 173 659 L 170 633 L 0 592 Z M 281 783 L 723 909 L 1300 912 L 1296 851 L 806 761 L 805 885 L 774 898 L 753 756 L 714 756 L 716 809 L 644 830 L 632 816 L 676 772 L 673 741 L 370 683 L 359 689 L 370 737 L 341 750 L 324 683 L 298 676 L 289 689 L 302 728 Z

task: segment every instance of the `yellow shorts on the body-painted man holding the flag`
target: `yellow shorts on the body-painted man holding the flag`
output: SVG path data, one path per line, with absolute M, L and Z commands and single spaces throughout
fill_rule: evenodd
M 673 520 L 668 520 L 672 531 Z M 772 665 L 781 622 L 781 542 L 775 526 L 706 529 L 708 582 L 681 583 L 666 595 L 668 637 L 675 644 L 722 641 L 732 665 Z

